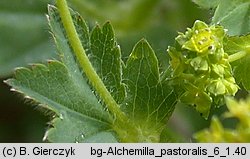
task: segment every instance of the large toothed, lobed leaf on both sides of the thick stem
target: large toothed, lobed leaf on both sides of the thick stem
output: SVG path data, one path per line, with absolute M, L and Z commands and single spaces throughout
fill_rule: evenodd
M 160 81 L 158 61 L 149 44 L 138 42 L 124 65 L 109 22 L 90 32 L 78 13 L 71 10 L 71 15 L 90 62 L 121 110 L 139 127 L 162 128 L 177 97 L 167 82 Z M 80 69 L 53 6 L 48 7 L 48 21 L 61 61 L 17 69 L 15 79 L 6 82 L 56 113 L 45 134 L 48 141 L 119 142 L 112 129 L 114 119 Z

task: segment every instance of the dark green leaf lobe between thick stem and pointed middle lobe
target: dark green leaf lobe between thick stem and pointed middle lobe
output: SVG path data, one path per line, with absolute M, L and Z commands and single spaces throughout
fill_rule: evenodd
M 125 86 L 121 83 L 121 51 L 111 24 L 107 22 L 103 28 L 96 26 L 90 43 L 91 53 L 88 55 L 92 65 L 114 99 L 121 103 L 125 97 Z

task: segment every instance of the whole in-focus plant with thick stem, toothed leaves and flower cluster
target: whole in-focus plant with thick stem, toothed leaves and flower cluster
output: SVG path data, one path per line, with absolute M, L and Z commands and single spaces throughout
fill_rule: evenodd
M 250 2 L 195 2 L 216 8 L 213 22 L 196 21 L 179 33 L 168 49 L 169 68 L 161 72 L 145 39 L 124 63 L 110 22 L 89 31 L 65 0 L 57 0 L 58 9 L 48 7 L 48 20 L 59 61 L 19 68 L 6 83 L 52 113 L 44 138 L 50 142 L 171 141 L 166 122 L 178 101 L 208 118 L 211 105 L 219 107 L 238 89 L 250 88 L 250 36 L 239 36 L 250 31 L 242 23 L 249 19 L 239 18 L 249 16 Z

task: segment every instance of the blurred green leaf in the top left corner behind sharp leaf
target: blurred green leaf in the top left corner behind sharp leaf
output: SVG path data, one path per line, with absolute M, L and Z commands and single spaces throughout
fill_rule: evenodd
M 55 56 L 46 25 L 49 0 L 1 0 L 0 76 L 12 74 L 17 66 Z

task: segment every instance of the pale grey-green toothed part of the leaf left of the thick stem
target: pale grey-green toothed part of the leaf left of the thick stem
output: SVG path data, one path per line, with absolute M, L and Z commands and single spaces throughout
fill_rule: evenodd
M 88 28 L 79 14 L 72 13 L 78 32 L 83 33 L 82 43 L 88 47 Z M 63 63 L 50 61 L 48 67 L 34 65 L 32 70 L 21 69 L 8 84 L 56 112 L 57 118 L 45 134 L 50 142 L 116 142 L 111 131 L 112 119 L 76 62 L 53 6 L 49 6 L 49 23 Z

